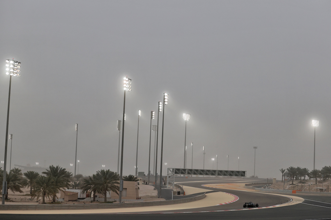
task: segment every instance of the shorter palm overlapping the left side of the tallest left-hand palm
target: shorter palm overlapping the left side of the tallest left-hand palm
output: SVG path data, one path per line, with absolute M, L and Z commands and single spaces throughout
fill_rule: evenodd
M 50 197 L 57 192 L 54 177 L 52 176 L 38 176 L 35 183 L 35 188 L 32 192 L 32 197 L 37 197 L 37 200 L 42 196 L 42 204 L 45 204 L 45 197 L 50 200 Z

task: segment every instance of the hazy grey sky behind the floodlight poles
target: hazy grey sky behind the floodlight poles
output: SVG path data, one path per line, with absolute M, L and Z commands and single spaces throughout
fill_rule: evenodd
M 183 167 L 183 113 L 191 114 L 189 168 L 193 142 L 193 168 L 203 168 L 205 146 L 205 168 L 217 154 L 218 169 L 227 169 L 229 155 L 230 170 L 240 157 L 239 169 L 251 176 L 257 146 L 259 177 L 280 179 L 289 166 L 311 170 L 312 119 L 320 120 L 316 168 L 331 165 L 330 8 L 330 1 L 2 0 L 0 158 L 5 60 L 14 58 L 22 68 L 12 79 L 12 166 L 46 160 L 70 171 L 78 123 L 79 173 L 102 164 L 116 171 L 126 75 L 124 175 L 135 172 L 138 109 L 138 171 L 147 174 L 150 111 L 164 92 L 167 167 Z

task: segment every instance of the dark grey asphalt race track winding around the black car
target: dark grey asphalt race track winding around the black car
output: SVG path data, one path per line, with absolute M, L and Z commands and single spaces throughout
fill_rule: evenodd
M 195 181 L 201 179 L 176 179 L 179 181 Z M 215 180 L 215 179 L 213 179 Z M 207 180 L 208 181 L 208 180 Z M 225 181 L 213 181 L 212 183 L 224 183 L 224 182 L 235 182 L 231 180 Z M 211 184 L 211 182 L 205 182 Z M 227 189 L 216 189 L 201 186 L 204 182 L 187 182 L 181 183 L 182 185 L 205 188 L 210 191 L 221 191 L 226 193 L 231 193 L 239 197 L 236 202 L 195 208 L 195 209 L 185 209 L 185 210 L 167 210 L 162 212 L 140 212 L 134 214 L 125 213 L 112 213 L 112 214 L 1 214 L 0 219 L 26 219 L 26 220 L 39 220 L 39 219 L 61 219 L 61 220 L 168 220 L 168 219 L 180 219 L 180 220 L 218 220 L 218 219 L 288 219 L 288 220 L 331 220 L 331 197 L 330 196 L 312 196 L 312 195 L 297 195 L 305 199 L 304 202 L 295 205 L 273 207 L 273 208 L 262 208 L 262 209 L 244 209 L 243 204 L 245 202 L 259 203 L 260 207 L 278 205 L 282 203 L 289 202 L 290 199 L 286 194 L 284 196 L 262 194 L 255 192 L 237 191 L 237 190 L 227 190 Z M 241 210 L 234 210 L 241 209 Z M 244 209 L 244 210 L 243 210 Z M 234 211 L 226 211 L 234 210 Z

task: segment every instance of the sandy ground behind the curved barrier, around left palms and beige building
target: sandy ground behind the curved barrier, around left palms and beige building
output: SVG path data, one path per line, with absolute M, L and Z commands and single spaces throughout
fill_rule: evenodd
M 36 198 L 31 198 L 29 196 L 30 188 L 22 188 L 23 193 L 14 193 L 11 190 L 8 191 L 8 201 L 5 204 L 38 204 L 42 202 L 40 197 L 38 200 Z M 26 195 L 28 194 L 28 195 Z M 60 197 L 60 193 L 57 194 Z M 139 185 L 139 197 L 144 200 L 144 202 L 151 201 L 163 201 L 165 199 L 158 198 L 158 191 L 154 190 L 152 185 Z M 51 199 L 51 198 L 50 198 Z M 45 202 L 51 202 L 48 198 L 45 198 Z M 100 203 L 100 202 L 63 202 L 64 204 L 79 204 L 79 203 Z

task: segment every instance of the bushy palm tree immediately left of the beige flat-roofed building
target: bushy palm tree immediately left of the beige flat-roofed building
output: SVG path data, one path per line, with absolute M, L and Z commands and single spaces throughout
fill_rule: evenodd
M 99 170 L 95 174 L 96 188 L 99 193 L 104 195 L 104 202 L 107 202 L 107 192 L 114 192 L 118 195 L 119 191 L 119 175 L 117 172 L 107 170 Z

